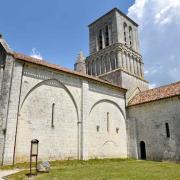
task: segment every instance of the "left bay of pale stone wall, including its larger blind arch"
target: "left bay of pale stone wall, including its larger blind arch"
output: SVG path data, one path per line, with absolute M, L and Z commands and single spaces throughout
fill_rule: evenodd
M 16 162 L 28 160 L 32 139 L 39 140 L 42 160 L 77 159 L 81 81 L 26 65 L 22 82 Z

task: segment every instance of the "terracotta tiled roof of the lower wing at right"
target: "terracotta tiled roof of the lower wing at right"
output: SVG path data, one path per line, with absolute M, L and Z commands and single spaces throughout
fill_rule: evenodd
M 157 101 L 160 99 L 165 99 L 179 95 L 180 95 L 180 81 L 170 85 L 140 92 L 128 103 L 128 106 L 147 103 L 151 101 Z

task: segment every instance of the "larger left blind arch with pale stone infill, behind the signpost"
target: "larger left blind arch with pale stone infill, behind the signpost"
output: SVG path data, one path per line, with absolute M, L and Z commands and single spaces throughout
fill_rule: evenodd
M 50 87 L 45 87 L 44 89 L 43 86 Z M 46 96 L 46 92 L 51 92 L 53 88 L 56 90 L 52 92 L 52 96 L 47 96 L 47 98 L 45 98 L 45 101 L 43 101 L 43 103 L 45 102 L 45 106 L 39 106 L 41 103 L 41 98 L 40 100 L 38 99 L 39 95 L 43 93 L 42 96 L 44 97 Z M 34 93 L 37 96 L 34 96 Z M 59 101 L 59 97 L 65 97 L 68 99 L 67 101 L 64 100 L 61 103 L 61 101 Z M 37 100 L 35 102 L 35 105 L 32 104 L 33 99 Z M 55 120 L 53 120 L 53 123 L 55 122 L 55 126 L 52 126 L 52 109 L 49 111 L 48 103 L 50 102 L 51 104 L 54 99 L 57 101 L 57 111 L 55 112 L 55 118 L 53 118 Z M 67 104 L 67 102 L 69 104 Z M 65 105 L 63 107 L 66 107 L 64 108 L 65 110 L 62 108 L 61 112 L 63 112 L 64 114 L 66 112 L 69 112 L 65 114 L 66 119 L 59 118 L 60 114 L 63 115 L 63 113 L 59 113 L 59 105 Z M 68 111 L 66 111 L 67 108 Z M 44 111 L 42 111 L 42 109 Z M 73 158 L 79 157 L 78 147 L 80 139 L 78 136 L 79 125 L 77 123 L 79 121 L 78 107 L 72 93 L 62 82 L 57 79 L 47 79 L 37 83 L 27 92 L 25 97 L 22 99 L 22 103 L 20 105 L 20 114 L 21 116 L 18 117 L 18 124 L 16 129 L 16 142 L 14 145 L 15 162 L 26 161 L 28 159 L 29 151 L 28 149 L 22 147 L 24 147 L 25 144 L 28 144 L 30 140 L 34 138 L 38 139 L 41 143 L 39 147 L 39 150 L 41 152 L 41 155 L 39 156 L 40 159 L 50 158 L 54 160 L 61 159 L 62 157 L 67 158 L 69 156 L 72 156 Z M 64 140 L 64 137 L 70 138 L 68 138 L 67 141 Z M 45 146 L 46 148 L 43 149 L 42 147 Z M 65 153 L 65 151 L 63 151 L 63 149 L 66 148 L 68 153 Z

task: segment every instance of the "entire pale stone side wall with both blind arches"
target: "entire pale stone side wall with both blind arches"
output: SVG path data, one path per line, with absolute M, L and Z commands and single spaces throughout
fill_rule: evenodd
M 100 130 L 105 138 L 93 144 L 107 111 L 113 133 Z M 32 139 L 39 140 L 39 160 L 127 157 L 124 93 L 38 65 L 15 62 L 6 129 L 4 164 L 29 161 Z

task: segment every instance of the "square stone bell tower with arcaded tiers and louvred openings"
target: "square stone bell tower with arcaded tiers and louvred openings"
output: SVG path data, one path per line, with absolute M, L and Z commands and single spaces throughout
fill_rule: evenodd
M 139 49 L 138 25 L 114 8 L 89 25 L 86 73 L 128 89 L 127 99 L 136 89 L 148 89 Z

